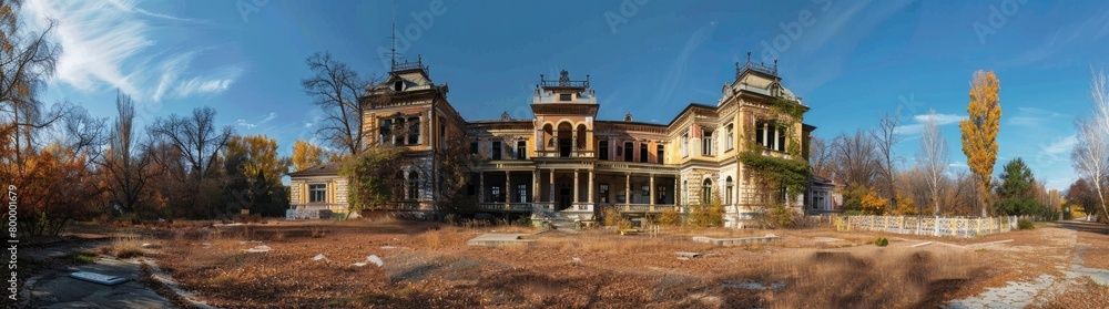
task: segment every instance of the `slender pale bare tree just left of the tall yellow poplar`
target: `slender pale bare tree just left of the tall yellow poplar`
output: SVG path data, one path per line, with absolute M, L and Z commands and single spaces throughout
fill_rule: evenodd
M 949 159 L 950 153 L 947 151 L 947 141 L 944 140 L 944 130 L 936 123 L 936 110 L 930 110 L 928 111 L 928 120 L 924 122 L 924 130 L 920 132 L 920 153 L 917 154 L 916 161 L 928 181 L 933 215 L 939 215 L 939 186 Z M 924 205 L 919 205 L 920 213 L 924 213 Z

